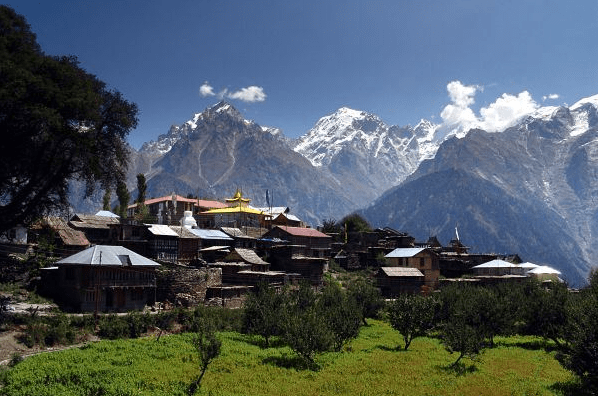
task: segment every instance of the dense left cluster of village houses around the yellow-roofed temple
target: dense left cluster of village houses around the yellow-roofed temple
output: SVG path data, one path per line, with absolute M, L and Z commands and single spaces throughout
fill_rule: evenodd
M 203 291 L 208 299 L 239 296 L 260 281 L 321 284 L 332 238 L 307 228 L 287 207 L 249 203 L 239 190 L 226 202 L 172 194 L 145 201 L 143 219 L 137 204 L 126 219 L 106 211 L 44 218 L 26 239 L 63 257 L 42 271 L 42 284 L 82 311 L 153 304 L 161 264 L 217 272 L 219 282 Z

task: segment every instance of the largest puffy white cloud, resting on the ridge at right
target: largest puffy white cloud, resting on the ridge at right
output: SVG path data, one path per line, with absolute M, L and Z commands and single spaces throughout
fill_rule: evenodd
M 446 89 L 451 103 L 440 113 L 440 131 L 443 135 L 455 132 L 457 136 L 463 136 L 472 128 L 488 132 L 503 131 L 539 107 L 527 91 L 518 95 L 504 93 L 487 107 L 482 107 L 480 114 L 476 115 L 470 106 L 475 103 L 475 95 L 483 91 L 483 87 L 451 81 Z

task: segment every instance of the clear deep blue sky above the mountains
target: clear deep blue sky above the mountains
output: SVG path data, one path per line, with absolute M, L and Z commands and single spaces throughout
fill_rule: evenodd
M 595 0 L 5 4 L 139 105 L 137 148 L 219 97 L 297 137 L 342 106 L 414 125 L 598 94 Z

